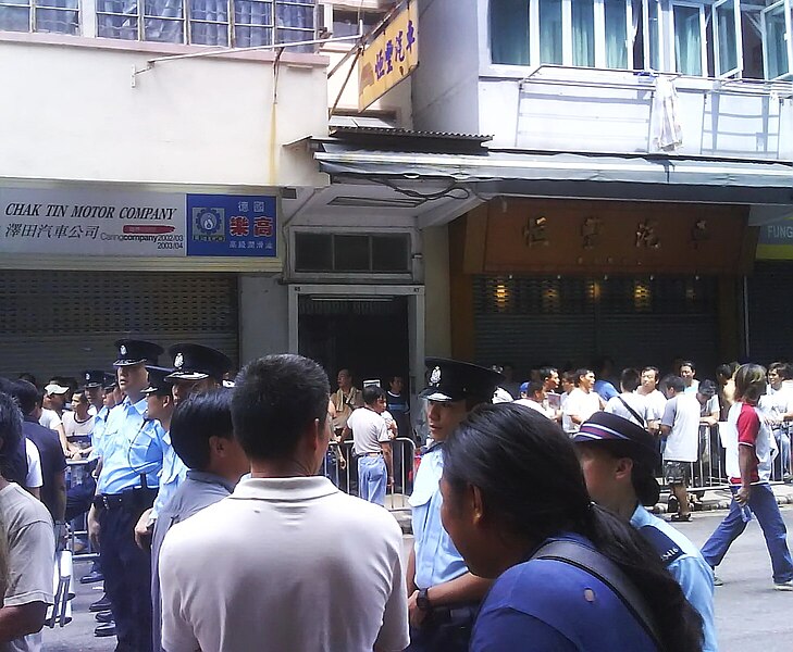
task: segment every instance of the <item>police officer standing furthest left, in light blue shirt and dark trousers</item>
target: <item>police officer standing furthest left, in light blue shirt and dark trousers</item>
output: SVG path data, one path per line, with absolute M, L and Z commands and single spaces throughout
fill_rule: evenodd
M 150 561 L 135 544 L 134 527 L 157 496 L 164 432 L 146 414 L 143 390 L 147 364 L 157 364 L 162 348 L 143 340 L 115 342 L 119 387 L 126 394 L 109 415 L 98 442 L 101 471 L 88 514 L 91 540 L 99 544 L 104 590 L 115 617 L 116 652 L 151 650 Z

